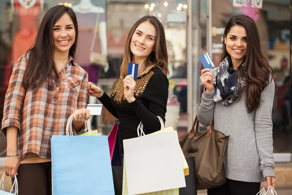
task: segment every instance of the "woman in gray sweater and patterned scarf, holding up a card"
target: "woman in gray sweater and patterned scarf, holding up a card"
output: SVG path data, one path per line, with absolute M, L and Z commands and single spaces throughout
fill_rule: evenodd
M 237 15 L 224 31 L 219 67 L 201 70 L 204 92 L 198 119 L 230 135 L 224 168 L 227 183 L 208 195 L 256 195 L 260 182 L 274 187 L 273 70 L 261 53 L 254 20 Z

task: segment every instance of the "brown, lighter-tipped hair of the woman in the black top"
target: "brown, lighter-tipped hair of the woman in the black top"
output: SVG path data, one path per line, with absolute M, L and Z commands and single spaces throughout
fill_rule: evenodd
M 133 25 L 133 27 L 131 28 L 128 34 L 128 38 L 127 38 L 127 42 L 125 46 L 124 58 L 121 65 L 121 75 L 120 75 L 121 78 L 125 78 L 127 76 L 128 62 L 132 61 L 133 54 L 130 49 L 132 36 L 136 28 L 139 26 L 139 24 L 144 21 L 150 22 L 156 28 L 156 36 L 155 36 L 155 43 L 154 43 L 155 51 L 152 51 L 151 54 L 145 60 L 144 65 L 146 68 L 139 76 L 148 73 L 150 69 L 155 66 L 161 68 L 161 70 L 163 71 L 166 77 L 169 74 L 164 27 L 162 23 L 156 17 L 144 16 L 140 20 L 136 21 L 136 23 Z

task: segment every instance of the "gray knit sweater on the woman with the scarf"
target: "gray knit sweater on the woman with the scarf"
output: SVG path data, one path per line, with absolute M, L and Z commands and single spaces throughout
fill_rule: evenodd
M 216 68 L 211 70 L 214 75 Z M 272 77 L 270 78 L 272 79 Z M 260 106 L 253 113 L 247 112 L 245 96 L 230 105 L 214 102 L 214 90 L 202 94 L 198 119 L 210 125 L 214 116 L 215 129 L 229 135 L 224 157 L 226 177 L 245 182 L 262 182 L 274 176 L 272 107 L 274 80 L 261 93 Z

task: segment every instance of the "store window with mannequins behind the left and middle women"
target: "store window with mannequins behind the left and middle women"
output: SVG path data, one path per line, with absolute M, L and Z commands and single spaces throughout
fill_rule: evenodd
M 0 120 L 9 78 L 15 61 L 33 44 L 39 24 L 53 6 L 73 8 L 78 21 L 76 61 L 89 73 L 89 81 L 111 94 L 120 74 L 124 47 L 132 25 L 145 15 L 156 16 L 164 25 L 169 57 L 167 121 L 186 131 L 187 0 L 1 0 L 0 1 Z M 106 56 L 107 64 L 91 57 Z M 89 103 L 98 103 L 89 98 Z M 107 135 L 117 119 L 103 109 L 92 117 L 92 128 Z M 6 138 L 0 136 L 0 156 Z

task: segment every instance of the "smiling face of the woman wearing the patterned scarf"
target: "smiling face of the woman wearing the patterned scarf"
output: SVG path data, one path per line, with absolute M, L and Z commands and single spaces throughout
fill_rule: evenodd
M 247 37 L 242 26 L 233 26 L 224 37 L 226 50 L 232 59 L 232 63 L 239 66 L 246 56 Z

